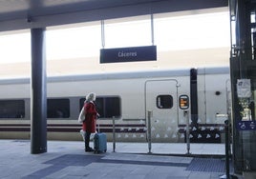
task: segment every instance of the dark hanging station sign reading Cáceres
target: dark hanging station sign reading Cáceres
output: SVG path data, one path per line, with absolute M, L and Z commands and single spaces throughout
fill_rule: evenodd
M 157 46 L 142 46 L 100 50 L 100 64 L 156 60 Z

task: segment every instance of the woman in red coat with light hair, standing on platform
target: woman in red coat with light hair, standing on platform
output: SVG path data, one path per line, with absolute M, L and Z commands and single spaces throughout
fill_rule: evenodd
M 86 101 L 84 102 L 84 113 L 85 120 L 83 121 L 83 130 L 85 131 L 85 151 L 94 151 L 90 148 L 90 136 L 91 133 L 96 132 L 96 93 L 91 92 L 86 96 Z

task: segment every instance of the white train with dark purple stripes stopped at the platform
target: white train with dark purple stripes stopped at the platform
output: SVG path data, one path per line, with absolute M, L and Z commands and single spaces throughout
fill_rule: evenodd
M 224 67 L 48 77 L 48 139 L 82 140 L 77 117 L 93 91 L 109 141 L 115 125 L 117 142 L 146 142 L 149 131 L 152 142 L 184 142 L 188 119 L 191 142 L 224 142 L 229 78 Z M 1 139 L 30 138 L 30 91 L 29 78 L 0 80 Z

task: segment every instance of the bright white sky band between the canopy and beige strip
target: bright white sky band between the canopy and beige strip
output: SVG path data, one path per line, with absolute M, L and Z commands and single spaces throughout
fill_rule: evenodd
M 150 46 L 158 50 L 190 50 L 230 46 L 228 11 L 108 23 L 101 39 L 100 22 L 93 26 L 46 30 L 47 60 L 99 55 L 101 48 Z M 0 34 L 2 63 L 31 61 L 30 32 Z

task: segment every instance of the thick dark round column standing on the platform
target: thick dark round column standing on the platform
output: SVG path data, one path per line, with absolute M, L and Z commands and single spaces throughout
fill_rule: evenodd
M 32 29 L 31 152 L 47 152 L 45 29 Z

